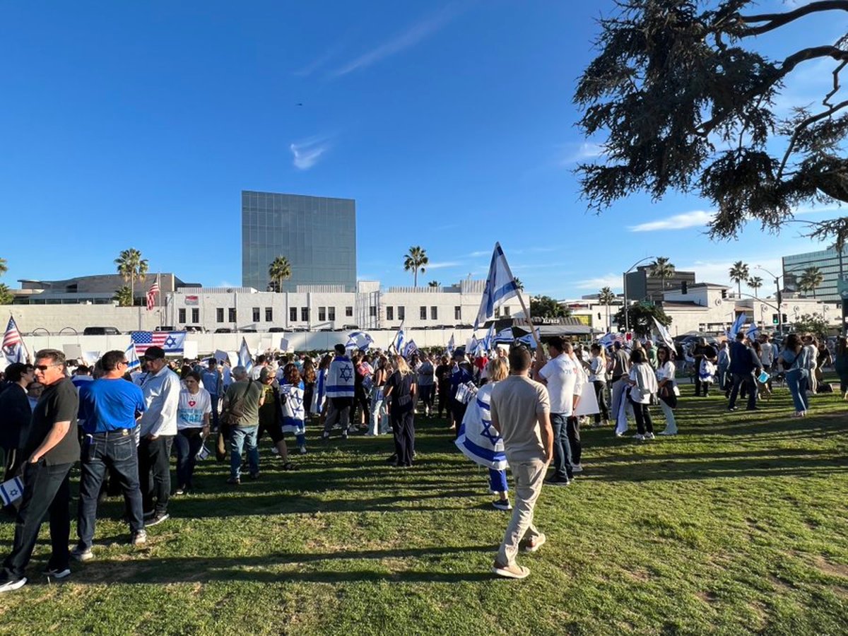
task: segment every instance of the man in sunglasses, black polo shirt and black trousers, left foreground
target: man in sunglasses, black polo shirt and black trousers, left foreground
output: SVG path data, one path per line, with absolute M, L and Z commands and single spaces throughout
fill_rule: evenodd
M 44 516 L 50 517 L 53 550 L 46 573 L 54 578 L 70 574 L 69 473 L 80 458 L 76 414 L 80 399 L 64 373 L 64 354 L 57 349 L 36 353 L 36 380 L 45 389 L 32 413 L 25 446 L 24 494 L 14 522 L 12 552 L 0 571 L 0 592 L 25 585 L 26 566 L 36 547 Z

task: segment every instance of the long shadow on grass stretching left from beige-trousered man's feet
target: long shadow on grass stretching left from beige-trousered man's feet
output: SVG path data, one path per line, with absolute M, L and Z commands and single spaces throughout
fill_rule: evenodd
M 249 581 L 251 583 L 460 583 L 492 580 L 488 571 L 449 572 L 450 557 L 469 553 L 489 553 L 494 560 L 496 546 L 432 547 L 409 550 L 338 550 L 324 553 L 276 553 L 232 558 L 153 558 L 135 561 L 89 561 L 75 570 L 78 585 L 103 583 L 211 583 Z M 445 561 L 445 557 L 447 557 Z M 437 563 L 410 563 L 403 569 L 399 561 L 436 560 Z M 380 561 L 386 560 L 385 563 Z M 354 561 L 373 561 L 373 568 L 356 569 Z M 349 563 L 350 562 L 350 563 Z M 427 569 L 423 569 L 427 568 Z

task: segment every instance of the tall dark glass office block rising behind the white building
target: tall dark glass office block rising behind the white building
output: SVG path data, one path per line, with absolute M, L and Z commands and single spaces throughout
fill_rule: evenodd
M 242 192 L 242 286 L 268 288 L 277 256 L 292 265 L 283 292 L 298 285 L 356 291 L 356 202 L 349 198 Z

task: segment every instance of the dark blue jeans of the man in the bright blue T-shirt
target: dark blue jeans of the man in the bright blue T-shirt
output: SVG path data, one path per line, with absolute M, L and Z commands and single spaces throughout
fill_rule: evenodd
M 135 431 L 124 428 L 86 435 L 80 455 L 80 503 L 76 510 L 76 535 L 86 548 L 91 548 L 94 540 L 98 495 L 107 468 L 118 478 L 124 493 L 131 532 L 144 529 Z

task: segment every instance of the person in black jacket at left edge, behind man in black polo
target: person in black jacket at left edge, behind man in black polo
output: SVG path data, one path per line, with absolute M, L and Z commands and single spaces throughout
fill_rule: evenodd
M 3 482 L 15 477 L 24 461 L 23 449 L 30 433 L 32 409 L 26 385 L 33 381 L 31 365 L 15 362 L 6 367 L 8 383 L 0 393 L 0 448 L 6 459 Z

